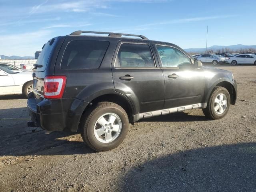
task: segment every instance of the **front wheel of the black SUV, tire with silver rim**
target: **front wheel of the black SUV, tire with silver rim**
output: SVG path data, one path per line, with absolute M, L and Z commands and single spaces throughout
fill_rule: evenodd
M 223 99 L 222 99 L 223 102 L 221 103 L 222 96 L 223 96 Z M 218 100 L 220 101 L 219 104 L 217 104 L 216 102 Z M 225 103 L 224 100 L 226 100 L 226 105 L 224 104 Z M 220 106 L 222 106 L 223 111 L 221 110 Z M 230 94 L 228 90 L 224 87 L 216 86 L 213 89 L 212 94 L 210 95 L 210 98 L 208 100 L 207 107 L 203 109 L 203 112 L 206 117 L 212 120 L 217 120 L 226 116 L 229 110 L 229 107 L 230 107 Z

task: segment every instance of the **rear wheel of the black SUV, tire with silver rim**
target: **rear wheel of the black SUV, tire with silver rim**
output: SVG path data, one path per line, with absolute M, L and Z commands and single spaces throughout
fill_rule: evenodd
M 112 119 L 115 117 L 114 122 L 109 120 L 110 115 Z M 128 123 L 128 116 L 121 106 L 100 102 L 82 116 L 81 136 L 93 150 L 108 151 L 122 143 L 128 131 Z

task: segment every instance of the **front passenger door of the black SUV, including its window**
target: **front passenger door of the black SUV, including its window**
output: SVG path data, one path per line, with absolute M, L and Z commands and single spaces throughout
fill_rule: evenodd
M 156 45 L 165 80 L 164 109 L 202 103 L 205 78 L 178 48 Z

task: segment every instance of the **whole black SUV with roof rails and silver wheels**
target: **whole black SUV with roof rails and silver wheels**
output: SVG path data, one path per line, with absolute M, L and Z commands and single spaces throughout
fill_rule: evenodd
M 129 123 L 196 108 L 220 119 L 237 97 L 231 72 L 203 67 L 180 47 L 141 35 L 55 37 L 34 66 L 28 124 L 79 130 L 97 151 L 118 146 Z

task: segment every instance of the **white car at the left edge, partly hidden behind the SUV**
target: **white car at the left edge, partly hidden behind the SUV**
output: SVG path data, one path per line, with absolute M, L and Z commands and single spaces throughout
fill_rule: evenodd
M 24 94 L 28 96 L 32 91 L 32 72 L 16 72 L 0 66 L 0 95 Z

